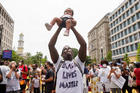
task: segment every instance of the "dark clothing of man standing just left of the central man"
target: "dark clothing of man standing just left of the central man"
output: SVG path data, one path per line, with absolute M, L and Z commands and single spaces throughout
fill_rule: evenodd
M 54 72 L 52 69 L 47 70 L 45 79 L 49 79 L 50 77 L 53 77 L 53 79 L 54 79 Z M 54 85 L 54 80 L 52 80 L 50 82 L 46 82 L 46 87 L 49 90 L 53 89 L 53 85 Z

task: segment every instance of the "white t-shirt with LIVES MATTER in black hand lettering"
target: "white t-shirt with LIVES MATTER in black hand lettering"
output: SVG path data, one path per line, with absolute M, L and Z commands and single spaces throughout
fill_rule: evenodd
M 62 58 L 59 57 L 55 64 L 55 69 L 59 66 Z M 79 57 L 75 58 L 82 71 L 84 72 L 84 63 Z M 79 68 L 75 66 L 73 60 L 65 61 L 57 72 L 56 93 L 83 93 L 83 77 Z

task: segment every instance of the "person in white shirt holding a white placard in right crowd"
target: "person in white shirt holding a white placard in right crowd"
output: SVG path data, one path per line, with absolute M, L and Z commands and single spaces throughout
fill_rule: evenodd
M 111 80 L 111 78 L 120 78 L 121 76 L 121 70 L 119 69 L 119 67 L 117 67 L 117 63 L 112 63 L 112 67 L 110 70 L 110 73 L 108 75 L 108 78 Z M 119 86 L 117 86 L 113 81 L 111 81 L 110 83 L 110 88 L 112 93 L 121 93 L 121 89 L 119 88 Z

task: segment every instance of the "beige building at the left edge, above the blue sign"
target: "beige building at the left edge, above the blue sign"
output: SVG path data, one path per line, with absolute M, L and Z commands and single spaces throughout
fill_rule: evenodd
M 0 3 L 0 25 L 1 29 L 1 44 L 0 44 L 0 52 L 2 50 L 11 50 L 13 43 L 13 33 L 14 33 L 14 21 L 5 10 L 5 8 Z

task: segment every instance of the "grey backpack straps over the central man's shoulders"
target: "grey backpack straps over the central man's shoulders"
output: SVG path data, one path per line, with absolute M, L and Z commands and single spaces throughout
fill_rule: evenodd
M 78 67 L 78 69 L 80 70 L 80 72 L 81 72 L 81 74 L 82 74 L 82 77 L 83 77 L 83 71 L 82 71 L 82 69 L 81 69 L 81 67 L 80 67 L 80 65 L 79 65 L 79 63 L 77 63 L 75 60 L 73 60 L 74 61 L 74 64 Z M 56 77 L 55 77 L 55 79 L 54 79 L 54 89 L 56 88 L 56 81 L 57 81 L 57 73 L 58 73 L 58 71 L 59 71 L 59 69 L 60 69 L 60 67 L 62 66 L 62 64 L 63 63 L 65 63 L 65 61 L 64 60 L 61 60 L 60 61 L 60 63 L 59 63 L 59 65 L 58 65 L 58 68 L 57 68 L 57 71 L 56 71 Z

